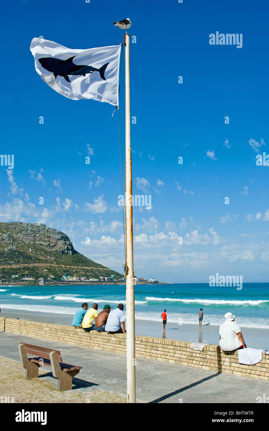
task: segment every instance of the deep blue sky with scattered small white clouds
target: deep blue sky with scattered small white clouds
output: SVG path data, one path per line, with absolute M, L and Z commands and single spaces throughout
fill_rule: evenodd
M 121 271 L 113 106 L 53 91 L 37 75 L 29 47 L 40 35 L 69 48 L 117 45 L 123 31 L 113 21 L 129 17 L 137 38 L 131 44 L 133 194 L 152 200 L 150 210 L 134 206 L 135 274 L 207 282 L 219 272 L 268 281 L 269 169 L 256 166 L 257 154 L 269 154 L 268 5 L 23 0 L 6 2 L 2 12 L 0 152 L 14 154 L 14 169 L 0 166 L 0 221 L 45 223 L 68 234 L 79 252 Z M 242 47 L 210 45 L 216 31 L 242 34 Z

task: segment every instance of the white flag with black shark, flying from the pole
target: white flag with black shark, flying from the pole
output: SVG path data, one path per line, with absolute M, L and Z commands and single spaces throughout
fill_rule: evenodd
M 31 53 L 37 73 L 53 90 L 72 100 L 94 99 L 119 105 L 121 45 L 71 50 L 34 37 Z

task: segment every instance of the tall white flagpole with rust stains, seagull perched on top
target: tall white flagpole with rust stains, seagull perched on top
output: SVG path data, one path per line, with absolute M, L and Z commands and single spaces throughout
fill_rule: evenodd
M 126 354 L 127 403 L 135 403 L 134 262 L 131 175 L 130 35 L 125 41 L 125 205 L 126 205 Z

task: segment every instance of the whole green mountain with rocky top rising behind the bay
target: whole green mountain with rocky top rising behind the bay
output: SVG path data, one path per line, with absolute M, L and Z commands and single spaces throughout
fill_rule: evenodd
M 99 278 L 123 275 L 78 253 L 63 232 L 41 223 L 0 223 L 0 278 L 18 275 L 35 281 L 49 275 L 60 280 L 72 277 Z

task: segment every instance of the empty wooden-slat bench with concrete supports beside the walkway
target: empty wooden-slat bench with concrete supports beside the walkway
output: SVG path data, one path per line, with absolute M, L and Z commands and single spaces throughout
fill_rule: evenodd
M 42 365 L 52 367 L 52 374 L 57 379 L 58 390 L 72 389 L 72 379 L 82 367 L 63 362 L 59 350 L 21 343 L 18 347 L 21 365 L 25 369 L 25 377 L 37 378 L 38 369 Z M 28 358 L 27 355 L 34 355 Z

